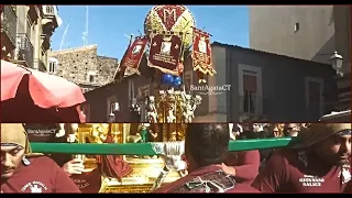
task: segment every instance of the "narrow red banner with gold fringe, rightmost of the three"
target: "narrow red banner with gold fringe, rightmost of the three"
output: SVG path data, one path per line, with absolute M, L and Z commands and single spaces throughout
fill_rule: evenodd
M 193 64 L 200 82 L 206 82 L 206 75 L 217 74 L 212 68 L 210 35 L 196 28 L 194 28 Z

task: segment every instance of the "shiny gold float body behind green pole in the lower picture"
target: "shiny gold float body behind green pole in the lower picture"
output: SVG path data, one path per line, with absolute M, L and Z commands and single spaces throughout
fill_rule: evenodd
M 150 134 L 154 134 L 155 138 L 163 136 L 162 131 L 155 130 L 160 124 L 148 124 L 148 123 L 89 123 L 89 124 L 72 124 L 73 133 L 68 136 L 68 142 L 70 143 L 143 143 L 145 139 L 143 138 L 143 130 L 147 130 Z M 183 128 L 178 127 L 182 130 Z M 155 130 L 155 132 L 153 132 Z M 184 131 L 179 131 L 184 133 Z M 183 136 L 179 136 L 183 138 Z M 148 141 L 156 141 L 150 139 Z M 153 142 L 155 145 L 161 146 L 160 143 Z M 157 147 L 156 147 L 157 150 Z M 160 148 L 158 148 L 160 150 Z M 163 158 L 157 156 L 119 156 L 119 162 L 117 160 L 111 166 L 119 166 L 123 163 L 131 167 L 131 172 L 122 178 L 114 178 L 108 176 L 109 174 L 103 173 L 101 168 L 101 157 L 102 156 L 88 156 L 88 155 L 74 155 L 76 158 L 84 160 L 85 174 L 94 173 L 98 168 L 101 176 L 101 186 L 99 193 L 147 193 L 153 186 L 155 186 L 158 179 L 160 173 L 163 172 L 165 167 L 165 162 Z M 123 163 L 122 163 L 123 161 Z M 113 169 L 113 168 L 111 168 Z M 88 174 L 89 177 L 89 174 Z M 164 177 L 165 183 L 174 182 L 179 178 L 180 175 L 177 172 L 170 172 L 167 177 Z M 95 186 L 97 184 L 86 184 L 86 183 L 99 183 L 98 179 L 90 180 L 84 176 L 79 176 L 78 180 L 82 188 Z M 76 183 L 77 184 L 77 183 Z M 85 190 L 85 189 L 82 189 Z

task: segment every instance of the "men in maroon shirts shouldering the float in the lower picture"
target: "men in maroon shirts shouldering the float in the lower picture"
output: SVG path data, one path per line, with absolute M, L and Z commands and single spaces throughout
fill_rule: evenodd
M 297 141 L 265 156 L 228 151 L 231 139 L 280 136 Z M 191 123 L 185 161 L 188 175 L 152 193 L 352 193 L 351 123 Z M 61 167 L 31 151 L 23 124 L 1 123 L 1 193 L 80 193 L 80 163 Z

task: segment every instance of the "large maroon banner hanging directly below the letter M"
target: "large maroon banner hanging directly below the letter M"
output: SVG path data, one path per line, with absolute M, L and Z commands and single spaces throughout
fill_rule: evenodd
M 147 65 L 178 76 L 179 58 L 183 52 L 183 37 L 177 34 L 152 34 Z

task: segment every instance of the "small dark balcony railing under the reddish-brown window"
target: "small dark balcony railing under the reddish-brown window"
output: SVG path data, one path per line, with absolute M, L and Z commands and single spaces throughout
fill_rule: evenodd
M 240 114 L 263 114 L 263 99 L 261 97 L 239 97 Z

